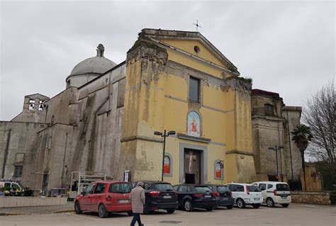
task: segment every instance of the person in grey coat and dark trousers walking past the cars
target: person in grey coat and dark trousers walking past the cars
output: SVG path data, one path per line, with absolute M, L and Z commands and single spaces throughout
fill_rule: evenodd
M 140 213 L 143 213 L 143 205 L 145 205 L 145 191 L 142 188 L 143 182 L 139 181 L 137 186 L 130 192 L 130 200 L 132 200 L 133 219 L 130 226 L 134 226 L 138 221 L 139 226 L 143 226 L 140 220 Z

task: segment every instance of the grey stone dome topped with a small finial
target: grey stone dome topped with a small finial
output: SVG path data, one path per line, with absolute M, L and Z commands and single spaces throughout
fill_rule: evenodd
M 116 66 L 116 63 L 103 56 L 105 48 L 102 44 L 97 47 L 96 57 L 90 57 L 79 62 L 67 77 L 67 88 L 69 86 L 82 86 L 95 77 Z

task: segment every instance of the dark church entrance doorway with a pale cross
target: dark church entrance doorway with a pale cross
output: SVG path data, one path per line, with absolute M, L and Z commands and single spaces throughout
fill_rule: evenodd
M 184 149 L 185 183 L 201 183 L 201 151 Z

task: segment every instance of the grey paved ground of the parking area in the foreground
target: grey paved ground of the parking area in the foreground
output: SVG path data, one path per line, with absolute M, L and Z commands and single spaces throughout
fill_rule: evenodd
M 39 225 L 130 225 L 126 214 L 111 214 L 105 219 L 96 213 L 52 213 L 32 215 L 0 216 L 1 226 L 39 226 Z M 336 207 L 325 205 L 303 205 L 291 203 L 289 208 L 247 208 L 233 210 L 220 209 L 206 212 L 196 210 L 187 213 L 177 210 L 172 215 L 158 211 L 152 215 L 142 215 L 146 226 L 172 225 L 336 225 Z M 166 222 L 164 222 L 166 221 Z M 172 222 L 167 222 L 172 221 Z

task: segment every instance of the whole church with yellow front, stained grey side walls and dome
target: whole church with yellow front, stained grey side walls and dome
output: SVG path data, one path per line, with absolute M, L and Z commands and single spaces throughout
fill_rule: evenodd
M 25 96 L 23 112 L 0 121 L 2 178 L 47 191 L 68 188 L 73 171 L 114 180 L 130 171 L 132 181 L 159 181 L 163 171 L 173 184 L 252 182 L 274 173 L 258 168 L 251 81 L 203 35 L 143 29 L 125 62 L 103 52 L 99 45 L 96 57 L 74 67 L 65 91 Z M 163 157 L 155 131 L 164 130 L 174 134 Z

